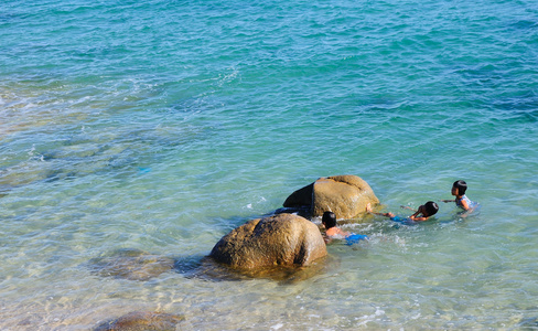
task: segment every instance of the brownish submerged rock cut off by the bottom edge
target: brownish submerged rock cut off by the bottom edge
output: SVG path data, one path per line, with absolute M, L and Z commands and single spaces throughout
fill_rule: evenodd
M 133 311 L 116 320 L 107 321 L 95 328 L 95 331 L 169 331 L 175 330 L 183 316 L 164 312 Z

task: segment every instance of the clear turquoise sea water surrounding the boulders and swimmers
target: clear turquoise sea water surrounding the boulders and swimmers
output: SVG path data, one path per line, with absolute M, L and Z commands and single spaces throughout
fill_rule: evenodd
M 536 1 L 3 0 L 0 44 L 0 329 L 538 329 Z M 369 242 L 293 284 L 87 267 L 196 263 L 334 174 L 482 210 L 346 222 Z

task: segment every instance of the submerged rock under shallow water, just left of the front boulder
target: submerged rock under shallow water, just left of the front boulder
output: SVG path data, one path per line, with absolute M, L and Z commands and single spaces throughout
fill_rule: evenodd
M 148 280 L 174 268 L 174 259 L 139 249 L 121 249 L 111 256 L 92 259 L 90 268 L 100 276 Z

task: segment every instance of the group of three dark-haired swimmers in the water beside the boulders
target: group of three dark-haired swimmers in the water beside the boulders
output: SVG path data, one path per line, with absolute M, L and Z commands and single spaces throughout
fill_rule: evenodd
M 452 195 L 455 196 L 454 200 L 441 200 L 441 202 L 455 202 L 455 205 L 461 207 L 465 213 L 472 212 L 477 203 L 471 201 L 466 195 L 467 183 L 463 180 L 458 180 L 452 185 Z M 408 206 L 402 206 L 410 209 Z M 412 210 L 412 209 L 410 209 Z M 366 212 L 374 215 L 380 215 L 389 217 L 391 221 L 399 223 L 410 223 L 410 222 L 424 222 L 429 217 L 437 214 L 439 211 L 439 205 L 433 201 L 428 201 L 427 203 L 420 205 L 417 211 L 412 210 L 415 213 L 408 217 L 399 217 L 392 213 L 375 213 L 372 210 L 372 205 L 368 203 L 366 206 Z M 347 239 L 348 243 L 357 242 L 359 239 L 367 238 L 365 235 L 357 235 L 349 232 L 345 232 L 336 226 L 336 215 L 333 212 L 323 213 L 322 225 L 325 227 L 325 243 L 330 243 L 332 239 Z

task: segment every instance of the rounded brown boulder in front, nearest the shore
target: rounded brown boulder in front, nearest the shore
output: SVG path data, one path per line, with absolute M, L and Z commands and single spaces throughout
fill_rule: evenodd
M 225 235 L 209 254 L 239 270 L 308 266 L 326 255 L 318 226 L 292 214 L 249 221 Z

